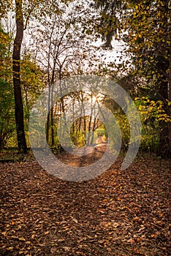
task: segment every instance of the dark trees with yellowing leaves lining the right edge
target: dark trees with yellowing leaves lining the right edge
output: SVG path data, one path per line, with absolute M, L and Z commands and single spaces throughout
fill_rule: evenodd
M 111 48 L 113 37 L 123 40 L 130 59 L 123 68 L 128 78 L 138 76 L 139 104 L 145 106 L 142 116 L 154 129 L 159 125 L 159 154 L 170 157 L 171 142 L 171 57 L 170 1 L 108 1 L 96 0 L 101 10 L 97 30 Z M 100 28 L 100 29 L 99 29 Z M 143 84 L 143 86 L 142 86 Z M 149 102 L 152 101 L 152 104 Z M 151 108 L 149 108 L 151 105 Z M 149 115 L 149 110 L 151 111 Z

